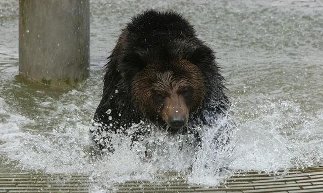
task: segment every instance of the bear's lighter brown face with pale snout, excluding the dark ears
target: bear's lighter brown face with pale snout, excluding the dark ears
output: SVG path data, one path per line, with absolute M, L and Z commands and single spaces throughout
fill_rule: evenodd
M 202 105 L 205 94 L 204 75 L 185 59 L 148 64 L 132 84 L 139 112 L 151 119 L 162 118 L 174 129 L 187 124 L 189 113 Z

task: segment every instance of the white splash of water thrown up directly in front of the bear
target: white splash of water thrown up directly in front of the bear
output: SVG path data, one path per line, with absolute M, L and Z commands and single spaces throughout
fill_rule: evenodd
M 134 124 L 128 133 L 148 127 L 149 135 L 131 145 L 131 137 L 112 134 L 115 152 L 97 160 L 95 163 L 100 168 L 95 169 L 92 175 L 94 178 L 104 176 L 100 183 L 109 182 L 106 184 L 109 185 L 125 180 L 155 180 L 159 174 L 164 174 L 164 179 L 160 180 L 165 180 L 168 173 L 178 172 L 183 176 L 189 175 L 187 180 L 190 183 L 216 185 L 219 171 L 228 166 L 232 146 L 223 144 L 217 147 L 214 136 L 228 123 L 228 117 L 223 117 L 217 125 L 200 128 L 202 146 L 197 144 L 193 134 L 171 136 L 167 130 L 151 124 Z M 209 180 L 205 181 L 205 177 Z

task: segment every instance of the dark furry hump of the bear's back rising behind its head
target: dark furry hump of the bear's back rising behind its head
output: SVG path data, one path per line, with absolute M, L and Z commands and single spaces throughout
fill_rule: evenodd
M 134 17 L 125 30 L 129 46 L 142 49 L 165 45 L 174 40 L 198 42 L 193 26 L 180 14 L 171 11 L 148 10 Z

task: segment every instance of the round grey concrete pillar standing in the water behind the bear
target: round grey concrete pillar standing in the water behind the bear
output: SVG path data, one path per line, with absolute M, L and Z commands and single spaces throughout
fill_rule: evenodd
M 19 0 L 19 73 L 53 87 L 89 75 L 89 0 Z

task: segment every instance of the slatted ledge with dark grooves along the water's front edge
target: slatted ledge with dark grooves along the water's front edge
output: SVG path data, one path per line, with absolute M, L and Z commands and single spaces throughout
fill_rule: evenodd
M 86 174 L 0 173 L 0 193 L 89 192 L 95 181 Z M 323 192 L 323 166 L 275 173 L 240 171 L 217 187 L 206 188 L 188 184 L 184 179 L 175 179 L 167 183 L 127 181 L 105 189 L 107 192 Z

